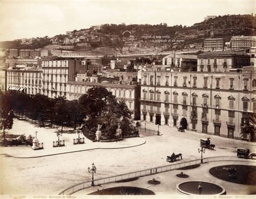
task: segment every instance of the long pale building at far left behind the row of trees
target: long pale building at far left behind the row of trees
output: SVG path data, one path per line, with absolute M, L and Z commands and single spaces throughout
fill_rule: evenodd
M 42 73 L 41 67 L 9 68 L 6 73 L 7 89 L 23 91 L 29 95 L 42 94 Z

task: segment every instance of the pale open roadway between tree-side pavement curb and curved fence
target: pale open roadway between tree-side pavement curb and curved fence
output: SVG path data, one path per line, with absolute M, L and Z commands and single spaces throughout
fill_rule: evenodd
M 30 125 L 23 122 L 28 129 Z M 88 173 L 87 167 L 91 167 L 92 162 L 97 167 L 97 179 L 172 164 L 166 162 L 166 155 L 172 152 L 182 153 L 185 161 L 199 159 L 200 137 L 208 135 L 180 133 L 177 129 L 171 129 L 168 133 L 163 132 L 163 136 L 147 133 L 141 136 L 145 137 L 146 144 L 132 148 L 92 150 L 32 159 L 1 155 L 1 194 L 58 194 L 73 184 L 90 180 L 91 173 Z M 253 147 L 252 143 L 246 141 L 220 137 L 212 137 L 212 143 L 218 143 L 216 151 L 206 150 L 204 157 L 235 155 L 236 146 Z

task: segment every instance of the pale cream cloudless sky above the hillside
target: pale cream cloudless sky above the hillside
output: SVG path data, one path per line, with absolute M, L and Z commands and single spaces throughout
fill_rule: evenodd
M 254 15 L 255 8 L 255 0 L 0 0 L 0 41 L 100 24 L 191 26 L 207 15 Z

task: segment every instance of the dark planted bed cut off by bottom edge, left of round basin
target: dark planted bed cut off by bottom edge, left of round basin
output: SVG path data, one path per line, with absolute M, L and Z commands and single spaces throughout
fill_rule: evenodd
M 90 193 L 88 195 L 156 195 L 149 189 L 139 187 L 112 187 Z

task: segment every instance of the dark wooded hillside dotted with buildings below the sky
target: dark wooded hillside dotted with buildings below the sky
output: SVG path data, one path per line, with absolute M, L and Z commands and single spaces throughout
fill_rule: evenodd
M 125 25 L 104 24 L 100 30 L 74 30 L 69 35 L 48 38 L 32 38 L 0 42 L 3 48 L 37 49 L 53 48 L 72 51 L 102 52 L 103 47 L 122 54 L 163 52 L 194 46 L 200 48 L 206 38 L 224 38 L 230 41 L 233 35 L 256 35 L 256 17 L 251 15 L 226 15 L 196 23 L 190 27 L 176 25 Z M 80 34 L 82 33 L 82 34 Z M 56 47 L 55 47 L 56 48 Z M 104 50 L 105 51 L 105 50 Z

